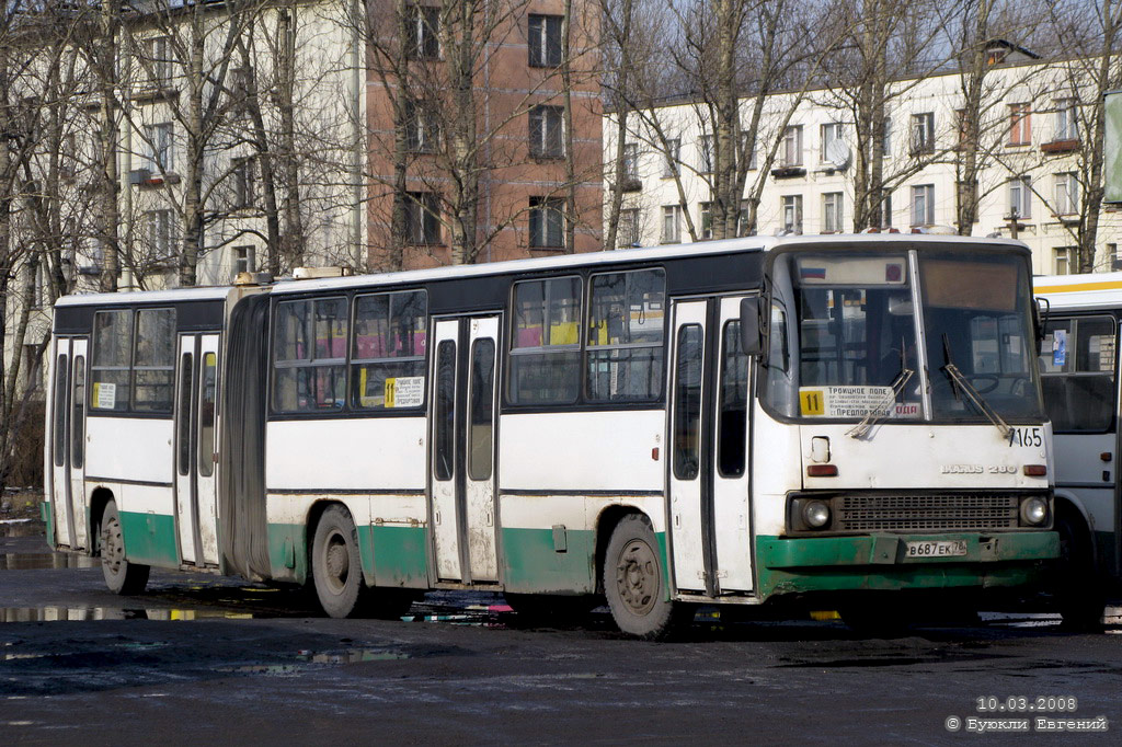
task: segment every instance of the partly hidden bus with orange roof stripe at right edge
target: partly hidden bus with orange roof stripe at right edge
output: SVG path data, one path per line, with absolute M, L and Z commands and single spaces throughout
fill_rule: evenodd
M 1067 589 L 1094 622 L 1106 597 L 1122 592 L 1122 273 L 1038 277 L 1033 285 L 1048 307 L 1040 371 L 1056 433 L 1056 529 L 1070 565 Z

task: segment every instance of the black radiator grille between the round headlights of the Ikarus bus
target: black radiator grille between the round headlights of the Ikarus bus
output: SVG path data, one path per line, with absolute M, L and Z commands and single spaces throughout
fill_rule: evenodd
M 1015 529 L 1017 496 L 844 496 L 837 528 L 845 532 Z

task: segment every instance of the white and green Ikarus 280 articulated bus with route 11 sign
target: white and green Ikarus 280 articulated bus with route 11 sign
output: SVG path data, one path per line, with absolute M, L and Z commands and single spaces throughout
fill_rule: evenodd
M 1027 248 L 745 238 L 70 296 L 49 540 L 311 583 L 502 591 L 659 637 L 699 603 L 912 600 L 1057 557 Z M 941 602 L 940 602 L 941 603 Z

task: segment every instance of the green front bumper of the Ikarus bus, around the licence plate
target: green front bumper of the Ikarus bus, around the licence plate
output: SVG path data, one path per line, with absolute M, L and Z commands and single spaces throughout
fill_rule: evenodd
M 910 557 L 908 543 L 960 541 L 965 555 Z M 829 591 L 899 591 L 955 587 L 1015 587 L 1041 578 L 1059 556 L 1055 532 L 756 538 L 761 599 Z

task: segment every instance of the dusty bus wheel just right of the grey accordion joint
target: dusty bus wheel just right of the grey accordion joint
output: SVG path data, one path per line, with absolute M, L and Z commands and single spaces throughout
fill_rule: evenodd
M 312 579 L 320 607 L 329 617 L 350 617 L 364 596 L 358 531 L 342 506 L 330 506 L 315 525 Z

